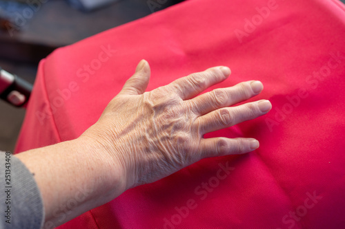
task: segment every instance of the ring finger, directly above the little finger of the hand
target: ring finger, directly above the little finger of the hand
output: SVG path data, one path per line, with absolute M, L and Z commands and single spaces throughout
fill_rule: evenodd
M 270 109 L 272 105 L 268 100 L 248 102 L 237 107 L 226 107 L 207 113 L 197 118 L 196 123 L 199 124 L 201 134 L 205 134 L 263 116 Z

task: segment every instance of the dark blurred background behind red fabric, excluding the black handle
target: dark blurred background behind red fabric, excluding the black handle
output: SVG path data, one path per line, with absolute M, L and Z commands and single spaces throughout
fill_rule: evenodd
M 164 10 L 183 0 L 0 0 L 0 67 L 34 83 L 37 66 L 57 47 Z M 84 1 L 92 2 L 90 0 Z M 25 116 L 0 100 L 0 150 L 13 151 Z

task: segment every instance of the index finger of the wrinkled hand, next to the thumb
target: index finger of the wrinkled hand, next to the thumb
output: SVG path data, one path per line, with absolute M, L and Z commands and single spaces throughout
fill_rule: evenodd
M 170 83 L 168 87 L 175 89 L 181 99 L 186 100 L 197 96 L 197 94 L 208 87 L 225 80 L 230 76 L 230 73 L 231 71 L 228 67 L 211 67 L 204 72 L 197 72 L 179 78 Z

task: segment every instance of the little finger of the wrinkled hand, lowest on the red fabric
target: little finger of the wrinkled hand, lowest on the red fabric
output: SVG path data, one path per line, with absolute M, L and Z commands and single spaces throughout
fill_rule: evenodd
M 248 153 L 259 148 L 254 138 L 206 138 L 200 142 L 200 157 Z

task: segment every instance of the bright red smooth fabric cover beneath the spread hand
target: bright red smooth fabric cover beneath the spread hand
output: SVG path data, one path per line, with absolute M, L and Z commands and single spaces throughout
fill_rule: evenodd
M 257 138 L 256 151 L 201 160 L 60 228 L 345 228 L 344 9 L 331 0 L 190 0 L 48 56 L 17 152 L 77 138 L 142 58 L 148 90 L 227 65 L 233 74 L 215 87 L 261 80 L 252 100 L 273 104 L 207 135 Z

